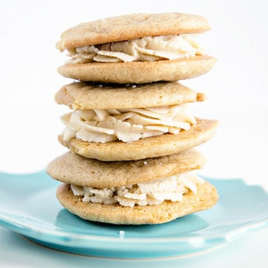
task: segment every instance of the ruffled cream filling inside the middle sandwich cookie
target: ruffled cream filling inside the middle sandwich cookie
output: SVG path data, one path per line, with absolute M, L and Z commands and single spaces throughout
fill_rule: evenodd
M 138 109 L 77 110 L 62 115 L 63 140 L 132 142 L 165 133 L 178 134 L 196 124 L 186 104 Z

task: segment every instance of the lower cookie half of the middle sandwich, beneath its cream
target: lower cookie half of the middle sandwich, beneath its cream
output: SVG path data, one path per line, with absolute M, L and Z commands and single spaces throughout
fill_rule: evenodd
M 87 158 L 101 161 L 139 160 L 179 153 L 209 140 L 216 132 L 218 122 L 215 120 L 197 119 L 197 124 L 188 131 L 178 134 L 163 134 L 126 143 L 111 141 L 107 143 L 86 142 L 76 138 L 69 142 L 59 142 L 73 152 Z

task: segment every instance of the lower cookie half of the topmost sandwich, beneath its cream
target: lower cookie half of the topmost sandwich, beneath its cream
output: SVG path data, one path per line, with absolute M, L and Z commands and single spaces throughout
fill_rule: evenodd
M 209 72 L 215 62 L 216 58 L 207 55 L 158 61 L 90 62 L 66 64 L 58 72 L 83 81 L 149 83 L 198 77 Z

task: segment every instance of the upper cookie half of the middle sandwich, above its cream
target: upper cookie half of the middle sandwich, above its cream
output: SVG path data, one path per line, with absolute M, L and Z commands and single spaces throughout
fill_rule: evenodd
M 195 93 L 178 82 L 128 86 L 76 82 L 63 86 L 55 96 L 58 104 L 65 104 L 73 110 L 159 107 L 203 101 L 205 98 L 204 94 Z

